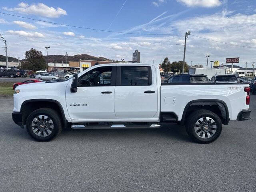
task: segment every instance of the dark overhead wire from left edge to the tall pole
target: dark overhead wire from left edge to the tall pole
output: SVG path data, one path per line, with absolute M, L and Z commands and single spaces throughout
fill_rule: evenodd
M 62 25 L 62 26 L 82 28 L 82 29 L 88 29 L 88 30 L 94 30 L 94 31 L 102 31 L 102 32 L 120 33 L 120 34 L 133 34 L 133 35 L 180 35 L 180 34 L 183 34 L 183 33 L 176 33 L 176 34 L 148 34 L 148 33 L 118 32 L 118 31 L 94 29 L 94 28 L 88 28 L 88 27 L 80 27 L 80 26 L 74 26 L 74 25 L 68 25 L 68 24 L 55 23 L 55 22 L 44 21 L 44 20 L 39 20 L 39 19 L 33 19 L 33 18 L 28 18 L 28 17 L 22 17 L 22 16 L 8 14 L 8 13 L 3 13 L 3 12 L 0 12 L 0 14 L 5 14 L 5 15 L 9 15 L 9 16 L 19 17 L 19 18 L 24 18 L 24 19 L 30 19 L 30 20 L 40 21 L 40 22 L 46 22 L 46 23 L 50 23 L 50 24 Z

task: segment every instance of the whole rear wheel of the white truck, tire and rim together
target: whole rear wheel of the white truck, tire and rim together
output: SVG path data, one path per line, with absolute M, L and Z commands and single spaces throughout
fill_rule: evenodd
M 210 110 L 197 110 L 186 120 L 186 132 L 198 143 L 215 141 L 222 131 L 220 117 Z

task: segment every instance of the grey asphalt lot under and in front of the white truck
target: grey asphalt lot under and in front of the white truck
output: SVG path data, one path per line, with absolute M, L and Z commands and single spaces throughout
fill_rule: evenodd
M 256 96 L 251 120 L 224 126 L 196 144 L 184 127 L 71 130 L 36 142 L 12 122 L 0 98 L 0 191 L 256 191 Z

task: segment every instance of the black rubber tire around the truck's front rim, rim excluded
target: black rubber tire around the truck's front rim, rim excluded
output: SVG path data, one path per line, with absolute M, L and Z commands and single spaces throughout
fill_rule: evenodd
M 40 115 L 50 117 L 54 126 L 52 133 L 45 137 L 36 135 L 32 130 L 32 121 L 36 116 Z M 55 110 L 52 110 L 50 108 L 40 108 L 30 113 L 26 120 L 26 129 L 28 131 L 28 134 L 35 140 L 40 142 L 46 142 L 54 139 L 56 136 L 58 136 L 58 134 L 60 134 L 60 132 L 62 131 L 62 123 L 59 114 Z

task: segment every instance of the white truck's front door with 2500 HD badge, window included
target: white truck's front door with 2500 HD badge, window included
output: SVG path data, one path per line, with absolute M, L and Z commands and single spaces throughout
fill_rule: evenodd
M 108 74 L 107 78 L 105 74 Z M 78 78 L 77 92 L 66 89 L 68 114 L 73 122 L 115 119 L 116 66 L 94 68 Z M 70 88 L 70 86 L 69 86 Z

